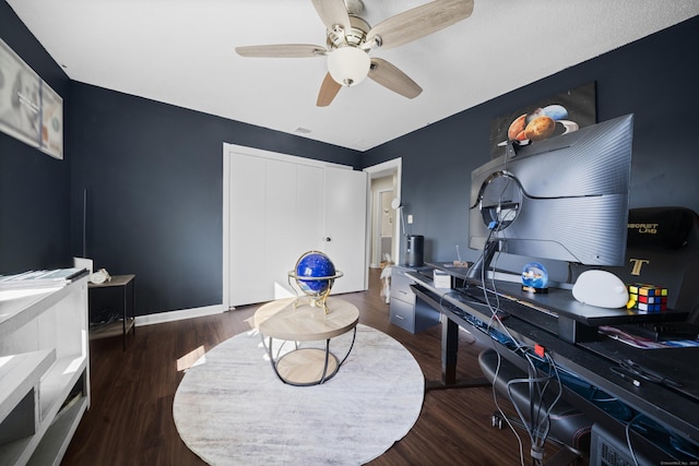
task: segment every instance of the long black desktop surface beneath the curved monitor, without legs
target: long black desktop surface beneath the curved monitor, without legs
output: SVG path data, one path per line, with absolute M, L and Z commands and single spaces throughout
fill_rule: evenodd
M 407 275 L 419 287 L 437 297 L 436 302 L 439 303 L 440 311 L 459 325 L 472 327 L 465 319 L 450 311 L 448 306 L 441 306 L 441 302 L 453 304 L 483 322 L 490 319 L 490 309 L 479 302 L 477 296 L 470 299 L 454 290 L 435 288 L 426 274 L 413 272 Z M 699 445 L 699 381 L 695 375 L 699 348 L 638 349 L 607 337 L 571 344 L 552 332 L 552 328 L 556 327 L 555 323 L 550 324 L 556 320 L 555 316 L 542 312 L 535 319 L 538 322 L 532 322 L 531 315 L 521 319 L 511 314 L 502 324 L 519 342 L 544 346 L 561 368 Z M 482 332 L 476 333 L 489 338 Z M 501 346 L 501 349 L 502 356 L 522 367 L 520 355 L 506 346 Z M 679 382 L 683 386 L 676 390 L 645 381 L 641 386 L 635 386 L 612 370 L 623 359 L 631 359 Z

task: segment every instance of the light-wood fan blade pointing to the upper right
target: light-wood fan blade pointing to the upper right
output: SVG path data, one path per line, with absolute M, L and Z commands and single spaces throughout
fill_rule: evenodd
M 436 33 L 473 13 L 473 0 L 435 0 L 391 16 L 367 34 L 367 44 L 392 48 Z

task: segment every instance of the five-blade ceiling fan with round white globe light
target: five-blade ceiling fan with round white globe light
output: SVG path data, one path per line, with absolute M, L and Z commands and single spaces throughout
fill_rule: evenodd
M 371 49 L 393 48 L 419 39 L 471 16 L 473 0 L 434 0 L 382 21 L 371 27 L 359 15 L 362 0 L 311 0 L 327 27 L 325 47 L 309 44 L 279 44 L 236 47 L 241 57 L 328 57 L 328 73 L 320 86 L 319 107 L 325 107 L 343 86 L 359 84 L 369 76 L 407 98 L 422 87 L 388 61 L 369 57 Z

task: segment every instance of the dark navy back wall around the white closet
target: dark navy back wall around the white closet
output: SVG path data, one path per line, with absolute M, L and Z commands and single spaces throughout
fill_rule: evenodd
M 86 192 L 86 255 L 137 274 L 138 313 L 222 302 L 224 142 L 360 168 L 355 151 L 85 84 L 71 92 L 73 226 Z

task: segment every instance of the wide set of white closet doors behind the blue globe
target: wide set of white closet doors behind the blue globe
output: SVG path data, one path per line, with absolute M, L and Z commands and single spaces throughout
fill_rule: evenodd
M 366 174 L 294 157 L 229 156 L 229 308 L 294 296 L 288 272 L 310 250 L 328 253 L 344 273 L 333 294 L 364 289 Z

